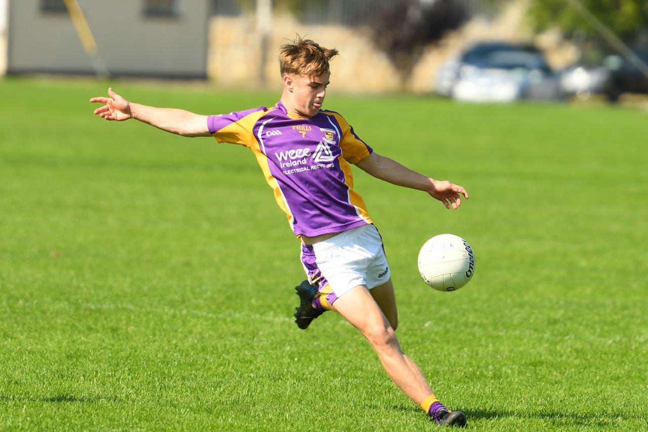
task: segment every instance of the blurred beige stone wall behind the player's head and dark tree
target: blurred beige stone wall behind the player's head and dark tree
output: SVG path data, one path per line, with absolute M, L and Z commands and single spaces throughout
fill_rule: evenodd
M 461 29 L 450 32 L 439 43 L 427 47 L 412 71 L 406 90 L 415 93 L 434 91 L 437 69 L 445 60 L 458 56 L 461 50 L 480 40 L 530 42 L 531 31 L 524 25 L 528 1 L 509 3 L 495 19 L 474 18 Z M 295 32 L 325 47 L 336 47 L 340 56 L 331 62 L 331 82 L 336 91 L 345 93 L 384 93 L 398 91 L 398 75 L 385 54 L 376 50 L 367 30 L 336 25 L 303 25 L 291 16 L 275 18 L 268 41 L 269 55 L 264 70 L 266 86 L 279 86 L 277 48 Z M 547 49 L 548 61 L 556 68 L 575 62 L 577 50 L 565 43 L 559 34 L 548 33 L 537 38 L 538 46 Z M 221 86 L 263 86 L 260 82 L 260 37 L 253 16 L 214 16 L 209 25 L 207 76 Z M 276 84 L 273 84 L 276 83 Z

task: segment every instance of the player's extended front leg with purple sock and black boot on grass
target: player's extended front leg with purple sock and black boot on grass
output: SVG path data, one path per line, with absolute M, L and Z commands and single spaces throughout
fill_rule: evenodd
M 385 287 L 384 292 L 388 291 Z M 360 330 L 378 354 L 389 378 L 433 420 L 450 426 L 465 426 L 465 415 L 461 411 L 451 413 L 439 402 L 421 369 L 400 349 L 396 333 L 367 287 L 354 287 L 338 298 L 332 309 Z

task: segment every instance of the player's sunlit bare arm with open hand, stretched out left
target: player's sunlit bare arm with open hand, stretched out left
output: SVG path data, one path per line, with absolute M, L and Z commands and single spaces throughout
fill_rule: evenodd
M 194 114 L 176 108 L 156 108 L 126 101 L 108 88 L 109 97 L 93 97 L 90 102 L 104 104 L 95 114 L 106 120 L 124 121 L 136 119 L 181 136 L 211 136 L 207 126 L 207 115 Z

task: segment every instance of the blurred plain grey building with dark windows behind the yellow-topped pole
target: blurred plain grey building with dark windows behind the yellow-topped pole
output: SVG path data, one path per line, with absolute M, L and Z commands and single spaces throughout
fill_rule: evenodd
M 206 77 L 209 0 L 78 3 L 111 74 Z M 8 6 L 8 73 L 94 73 L 63 0 Z

